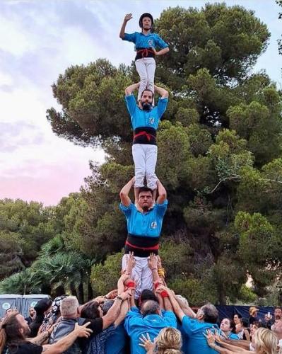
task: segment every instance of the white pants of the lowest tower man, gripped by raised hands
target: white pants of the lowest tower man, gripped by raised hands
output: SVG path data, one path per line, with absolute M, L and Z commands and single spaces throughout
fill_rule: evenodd
M 122 270 L 127 268 L 127 258 L 129 254 L 122 257 Z M 138 299 L 145 289 L 153 290 L 153 273 L 148 266 L 149 257 L 134 257 L 135 266 L 131 273 L 131 278 L 136 284 L 135 298 Z

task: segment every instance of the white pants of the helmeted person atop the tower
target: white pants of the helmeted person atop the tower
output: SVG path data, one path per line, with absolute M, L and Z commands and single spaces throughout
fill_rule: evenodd
M 138 91 L 138 100 L 141 98 L 141 93 L 145 89 L 154 92 L 154 79 L 155 79 L 155 59 L 143 58 L 135 61 L 136 70 L 140 76 L 140 86 Z

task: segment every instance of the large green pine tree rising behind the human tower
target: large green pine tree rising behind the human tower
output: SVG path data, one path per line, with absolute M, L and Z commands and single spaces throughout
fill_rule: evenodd
M 269 263 L 271 271 L 265 263 L 251 268 L 248 254 L 257 257 L 261 243 L 252 237 L 254 250 L 245 253 L 243 240 L 250 236 L 238 229 L 238 220 L 240 212 L 260 213 L 265 219 L 260 236 L 269 242 L 264 251 L 274 261 L 282 229 L 281 93 L 266 74 L 250 74 L 266 50 L 269 30 L 254 11 L 225 4 L 165 9 L 155 28 L 171 49 L 158 58 L 155 78 L 171 93 L 158 132 L 157 173 L 170 201 L 163 239 L 172 237 L 176 254 L 191 265 L 184 275 L 168 266 L 171 279 L 177 289 L 187 287 L 185 294 L 195 302 L 204 301 L 199 296 L 204 291 L 224 304 L 253 296 L 244 290 L 252 269 L 254 292 L 265 294 L 280 265 Z M 122 249 L 127 235 L 118 192 L 134 171 L 123 100 L 132 81 L 133 66 L 116 68 L 105 59 L 70 67 L 52 86 L 61 112 L 47 111 L 55 134 L 75 144 L 100 146 L 107 154 L 105 164 L 91 165 L 93 175 L 86 178 L 81 197 L 66 203 L 68 216 L 61 218 L 66 244 L 101 262 L 94 274 L 109 253 Z M 172 258 L 167 254 L 165 261 Z

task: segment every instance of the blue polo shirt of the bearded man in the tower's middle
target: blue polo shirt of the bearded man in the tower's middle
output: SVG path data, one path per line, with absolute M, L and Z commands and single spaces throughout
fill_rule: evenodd
M 127 103 L 127 110 L 129 111 L 134 130 L 138 127 L 152 127 L 157 130 L 160 118 L 162 118 L 167 108 L 168 98 L 159 98 L 158 105 L 149 111 L 141 110 L 136 105 L 136 99 L 132 94 L 125 96 L 125 102 Z

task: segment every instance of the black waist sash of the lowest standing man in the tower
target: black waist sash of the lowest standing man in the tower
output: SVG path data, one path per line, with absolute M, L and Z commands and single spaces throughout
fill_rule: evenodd
M 125 253 L 134 252 L 134 256 L 148 257 L 150 253 L 158 254 L 159 237 L 127 235 L 125 241 Z

